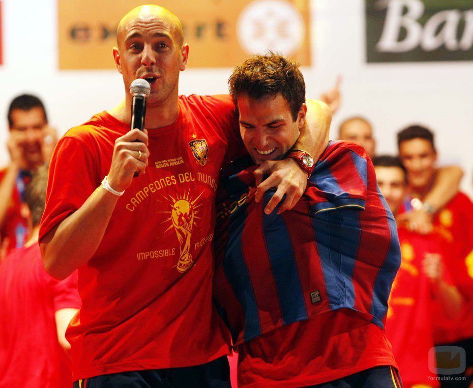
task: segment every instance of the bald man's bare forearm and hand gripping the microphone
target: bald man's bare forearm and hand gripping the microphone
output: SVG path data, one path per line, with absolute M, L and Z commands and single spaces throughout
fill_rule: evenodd
M 140 142 L 134 142 L 135 140 Z M 116 191 L 123 191 L 130 186 L 136 171 L 144 173 L 150 154 L 147 144 L 147 132 L 138 129 L 117 138 L 107 175 L 110 187 Z M 140 160 L 138 160 L 139 152 L 141 152 Z M 71 177 L 71 180 L 74 178 Z M 53 278 L 65 279 L 94 255 L 118 199 L 119 196 L 102 186 L 97 187 L 79 209 L 41 239 L 43 264 Z

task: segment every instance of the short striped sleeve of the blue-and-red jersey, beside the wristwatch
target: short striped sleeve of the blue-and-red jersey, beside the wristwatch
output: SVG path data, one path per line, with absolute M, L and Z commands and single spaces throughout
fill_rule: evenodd
M 344 207 L 364 210 L 368 163 L 371 161 L 362 147 L 344 142 L 329 144 L 307 185 L 305 195 L 312 211 L 317 214 Z

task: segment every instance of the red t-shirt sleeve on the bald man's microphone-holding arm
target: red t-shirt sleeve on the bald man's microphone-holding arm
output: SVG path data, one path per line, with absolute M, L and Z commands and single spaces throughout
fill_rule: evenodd
M 97 174 L 93 157 L 81 141 L 63 137 L 57 143 L 49 165 L 40 241 L 91 196 L 98 187 Z

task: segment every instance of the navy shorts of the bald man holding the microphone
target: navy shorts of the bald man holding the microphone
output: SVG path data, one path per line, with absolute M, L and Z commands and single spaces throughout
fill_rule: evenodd
M 185 368 L 120 372 L 74 382 L 74 388 L 230 388 L 226 356 Z

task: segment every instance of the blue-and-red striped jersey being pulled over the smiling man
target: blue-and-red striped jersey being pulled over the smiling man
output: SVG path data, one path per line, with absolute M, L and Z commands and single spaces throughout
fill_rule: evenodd
M 401 256 L 371 160 L 330 142 L 301 200 L 269 215 L 254 201 L 248 158 L 222 171 L 214 300 L 235 345 L 282 325 L 347 308 L 383 327 Z

